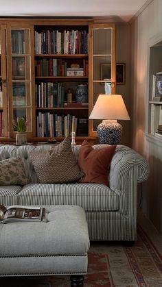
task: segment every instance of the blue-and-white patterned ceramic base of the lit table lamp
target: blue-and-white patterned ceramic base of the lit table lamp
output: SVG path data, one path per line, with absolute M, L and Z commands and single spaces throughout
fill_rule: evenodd
M 117 123 L 117 121 L 100 123 L 100 125 L 97 126 L 99 143 L 107 145 L 119 145 L 119 141 L 122 136 L 122 129 L 122 125 Z

